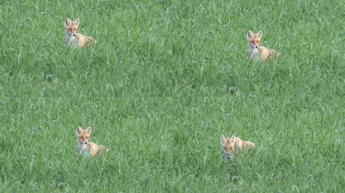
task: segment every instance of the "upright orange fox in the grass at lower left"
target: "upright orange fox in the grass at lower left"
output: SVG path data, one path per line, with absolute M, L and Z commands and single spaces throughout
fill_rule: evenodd
M 85 130 L 83 130 L 80 126 L 76 129 L 76 136 L 77 136 L 77 153 L 81 155 L 84 152 L 90 151 L 92 156 L 95 156 L 100 150 L 106 149 L 102 145 L 97 145 L 92 142 L 88 142 L 89 136 L 91 133 L 91 127 L 89 126 Z

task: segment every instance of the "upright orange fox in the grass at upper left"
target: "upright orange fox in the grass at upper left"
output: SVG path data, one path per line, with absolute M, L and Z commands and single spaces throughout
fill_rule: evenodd
M 93 41 L 93 38 L 91 37 L 84 36 L 83 34 L 77 34 L 79 18 L 77 18 L 73 22 L 69 18 L 66 18 L 64 25 L 65 25 L 65 43 L 67 46 L 78 44 L 78 46 L 82 48 L 89 42 L 94 42 L 94 43 L 97 42 L 97 41 Z

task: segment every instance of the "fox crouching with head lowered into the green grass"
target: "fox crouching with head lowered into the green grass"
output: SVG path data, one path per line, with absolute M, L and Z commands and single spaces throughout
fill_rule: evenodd
M 251 141 L 243 141 L 239 137 L 232 135 L 229 138 L 225 138 L 222 134 L 220 138 L 221 153 L 224 160 L 232 160 L 234 155 L 241 152 L 243 149 L 247 152 L 251 148 L 255 147 L 255 143 Z

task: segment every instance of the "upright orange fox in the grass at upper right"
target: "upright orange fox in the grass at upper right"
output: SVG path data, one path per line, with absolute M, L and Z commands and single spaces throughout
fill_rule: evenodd
M 254 58 L 254 59 L 262 59 L 266 60 L 267 58 L 272 58 L 273 55 L 279 56 L 279 53 L 267 49 L 265 47 L 259 46 L 260 39 L 262 36 L 262 32 L 259 31 L 256 34 L 253 34 L 252 31 L 248 30 L 247 32 L 247 41 L 248 41 L 248 50 L 247 50 L 247 56 L 248 58 Z

